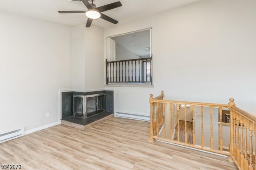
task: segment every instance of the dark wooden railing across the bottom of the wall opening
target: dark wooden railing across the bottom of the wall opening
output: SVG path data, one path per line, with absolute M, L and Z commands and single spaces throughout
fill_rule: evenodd
M 106 60 L 106 83 L 150 83 L 152 57 L 120 61 Z

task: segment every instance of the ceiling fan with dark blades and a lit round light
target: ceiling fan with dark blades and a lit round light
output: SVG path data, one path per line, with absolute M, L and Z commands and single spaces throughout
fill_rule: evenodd
M 122 6 L 121 2 L 114 2 L 111 4 L 107 4 L 104 6 L 100 6 L 96 8 L 96 5 L 93 3 L 94 0 L 91 0 L 92 3 L 90 4 L 87 0 L 81 0 L 83 4 L 88 8 L 87 11 L 58 11 L 60 14 L 68 14 L 68 13 L 85 13 L 85 15 L 88 17 L 86 27 L 90 27 L 92 24 L 93 19 L 102 18 L 103 20 L 106 20 L 108 22 L 112 22 L 113 24 L 117 24 L 118 21 L 114 20 L 113 18 L 110 18 L 109 16 L 106 16 L 102 14 L 101 12 L 112 10 L 114 8 L 118 8 Z

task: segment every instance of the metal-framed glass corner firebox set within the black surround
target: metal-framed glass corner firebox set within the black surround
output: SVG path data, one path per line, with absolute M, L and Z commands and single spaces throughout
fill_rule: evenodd
M 105 93 L 95 95 L 73 95 L 73 115 L 90 117 L 105 111 Z

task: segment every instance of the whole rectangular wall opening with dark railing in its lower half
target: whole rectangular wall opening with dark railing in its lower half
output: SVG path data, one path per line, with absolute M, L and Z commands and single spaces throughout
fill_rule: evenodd
M 149 28 L 108 37 L 107 84 L 152 85 L 151 31 Z

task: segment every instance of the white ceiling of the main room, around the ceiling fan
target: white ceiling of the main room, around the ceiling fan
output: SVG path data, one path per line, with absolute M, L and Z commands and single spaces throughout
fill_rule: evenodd
M 95 0 L 96 6 L 103 6 L 118 0 Z M 128 22 L 139 17 L 150 16 L 171 8 L 183 6 L 200 0 L 120 0 L 123 6 L 103 12 L 121 22 Z M 0 0 L 0 11 L 28 16 L 66 25 L 76 25 L 86 22 L 84 14 L 59 14 L 59 10 L 87 10 L 68 0 Z M 97 19 L 92 24 L 108 27 L 113 24 Z

